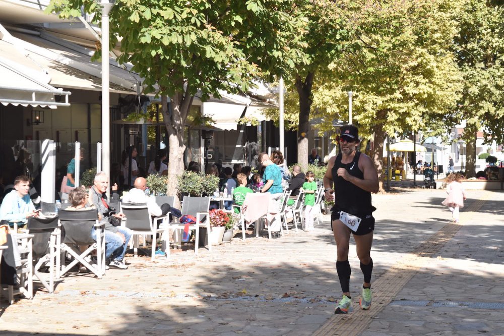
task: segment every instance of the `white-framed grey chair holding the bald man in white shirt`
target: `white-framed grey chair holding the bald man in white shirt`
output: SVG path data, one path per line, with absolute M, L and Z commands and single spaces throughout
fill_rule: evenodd
M 149 208 L 145 203 L 140 204 L 122 203 L 121 211 L 126 216 L 125 221 L 123 221 L 125 227 L 133 231 L 132 233 L 133 251 L 135 258 L 138 257 L 138 245 L 139 245 L 138 236 L 143 235 L 145 237 L 145 235 L 150 235 L 152 236 L 151 260 L 154 260 L 156 257 L 156 235 L 161 232 L 163 233 L 161 235 L 163 239 L 161 249 L 163 251 L 166 250 L 165 251 L 166 258 L 169 257 L 170 255 L 169 242 L 166 242 L 166 239 L 168 239 L 168 232 L 170 226 L 168 220 L 165 221 L 165 225 L 162 228 L 159 228 L 159 223 L 162 222 L 164 219 L 169 218 L 170 215 L 169 212 L 164 216 L 152 217 L 149 213 Z

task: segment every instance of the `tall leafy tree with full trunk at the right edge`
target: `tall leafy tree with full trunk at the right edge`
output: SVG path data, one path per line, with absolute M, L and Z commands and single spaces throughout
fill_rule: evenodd
M 476 134 L 483 128 L 487 141 L 504 142 L 504 5 L 466 0 L 455 39 L 463 74 L 459 111 L 466 121 L 466 176 L 476 175 Z

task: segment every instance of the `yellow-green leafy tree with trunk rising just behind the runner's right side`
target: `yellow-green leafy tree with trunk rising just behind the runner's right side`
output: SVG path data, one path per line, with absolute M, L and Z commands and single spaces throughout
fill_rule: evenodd
M 447 0 L 356 3 L 352 38 L 313 93 L 314 117 L 348 120 L 347 91 L 354 92 L 353 123 L 373 136 L 371 156 L 383 191 L 387 135 L 437 135 L 447 132 L 447 123 L 455 125 L 461 76 L 450 47 L 457 7 Z

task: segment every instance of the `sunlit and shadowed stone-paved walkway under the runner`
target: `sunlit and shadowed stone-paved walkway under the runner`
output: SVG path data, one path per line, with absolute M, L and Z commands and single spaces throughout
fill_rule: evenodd
M 468 193 L 461 225 L 440 204 L 443 190 L 373 195 L 369 311 L 357 309 L 362 273 L 352 241 L 356 309 L 333 314 L 341 293 L 323 216 L 309 233 L 235 238 L 169 260 L 129 257 L 128 270 L 102 279 L 67 276 L 53 295 L 2 303 L 0 334 L 504 334 L 504 193 Z

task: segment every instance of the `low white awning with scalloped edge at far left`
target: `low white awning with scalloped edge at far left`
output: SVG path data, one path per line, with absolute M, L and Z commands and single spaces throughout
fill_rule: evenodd
M 63 102 L 56 102 L 57 96 L 65 96 Z M 0 102 L 4 105 L 23 106 L 70 106 L 70 92 L 56 89 L 47 84 L 43 74 L 39 74 L 19 64 L 0 57 Z

